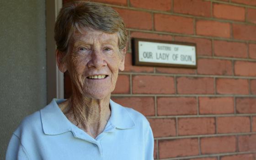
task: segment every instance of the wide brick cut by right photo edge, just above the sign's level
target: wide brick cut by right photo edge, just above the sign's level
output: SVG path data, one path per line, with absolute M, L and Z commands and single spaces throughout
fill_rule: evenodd
M 233 24 L 233 36 L 235 39 L 256 41 L 256 26 Z

